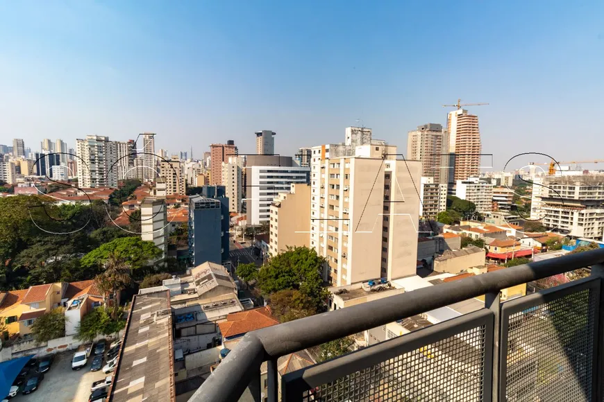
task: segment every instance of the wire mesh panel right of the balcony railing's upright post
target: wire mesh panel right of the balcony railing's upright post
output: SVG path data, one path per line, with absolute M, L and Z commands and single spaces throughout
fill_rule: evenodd
M 506 401 L 592 401 L 594 292 L 578 286 L 537 306 L 518 304 L 514 310 L 521 311 L 507 315 Z

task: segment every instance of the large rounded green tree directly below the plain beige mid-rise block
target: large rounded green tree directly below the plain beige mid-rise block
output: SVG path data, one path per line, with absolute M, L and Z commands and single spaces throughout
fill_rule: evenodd
M 260 290 L 265 295 L 285 289 L 300 290 L 312 299 L 317 310 L 324 308 L 327 290 L 323 287 L 321 270 L 326 259 L 308 247 L 287 247 L 272 256 L 258 272 Z

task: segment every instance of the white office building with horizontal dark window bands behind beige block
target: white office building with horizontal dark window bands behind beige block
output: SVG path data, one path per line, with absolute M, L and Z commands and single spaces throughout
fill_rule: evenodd
M 309 172 L 300 166 L 246 166 L 247 224 L 268 222 L 273 199 L 294 183 L 308 183 Z

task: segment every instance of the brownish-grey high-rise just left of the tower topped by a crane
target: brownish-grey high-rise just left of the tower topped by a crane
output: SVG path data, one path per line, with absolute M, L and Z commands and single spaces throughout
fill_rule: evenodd
M 407 158 L 421 161 L 422 177 L 434 177 L 434 183 L 448 182 L 448 140 L 442 125 L 418 125 L 407 138 Z

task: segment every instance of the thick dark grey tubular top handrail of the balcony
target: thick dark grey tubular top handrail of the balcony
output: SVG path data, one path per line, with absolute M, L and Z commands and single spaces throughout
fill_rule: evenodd
M 244 335 L 190 401 L 237 401 L 260 365 L 288 353 L 501 289 L 604 263 L 604 249 L 517 265 L 278 324 Z

